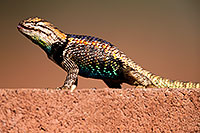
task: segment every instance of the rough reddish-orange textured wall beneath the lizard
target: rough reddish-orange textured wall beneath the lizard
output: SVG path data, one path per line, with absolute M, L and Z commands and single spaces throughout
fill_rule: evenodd
M 200 89 L 1 89 L 0 132 L 198 132 Z

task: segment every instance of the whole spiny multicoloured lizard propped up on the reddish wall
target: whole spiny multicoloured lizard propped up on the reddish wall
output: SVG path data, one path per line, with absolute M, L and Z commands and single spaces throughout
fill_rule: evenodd
M 121 88 L 122 83 L 144 88 L 200 88 L 199 83 L 155 75 L 110 42 L 93 36 L 67 34 L 41 17 L 20 21 L 17 29 L 67 72 L 60 89 L 73 91 L 78 75 L 101 79 L 109 88 Z

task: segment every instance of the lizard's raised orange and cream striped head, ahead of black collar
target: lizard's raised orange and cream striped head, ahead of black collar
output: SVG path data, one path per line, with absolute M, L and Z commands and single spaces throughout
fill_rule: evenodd
M 17 29 L 46 52 L 51 51 L 52 44 L 66 41 L 66 35 L 62 31 L 40 17 L 22 20 Z

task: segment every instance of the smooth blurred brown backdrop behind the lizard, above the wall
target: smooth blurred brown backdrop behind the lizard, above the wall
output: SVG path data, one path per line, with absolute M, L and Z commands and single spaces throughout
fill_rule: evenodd
M 155 74 L 200 82 L 198 0 L 7 0 L 0 16 L 0 87 L 57 87 L 65 80 L 66 73 L 17 31 L 18 22 L 30 16 L 66 33 L 110 41 Z M 90 87 L 105 85 L 79 77 L 78 88 Z

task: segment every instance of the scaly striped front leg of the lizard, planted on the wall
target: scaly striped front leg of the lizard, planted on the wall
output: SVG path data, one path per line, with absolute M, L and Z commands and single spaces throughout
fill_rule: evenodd
M 73 92 L 78 83 L 79 68 L 74 61 L 69 58 L 64 58 L 61 67 L 68 73 L 66 80 L 61 89 L 70 89 Z

